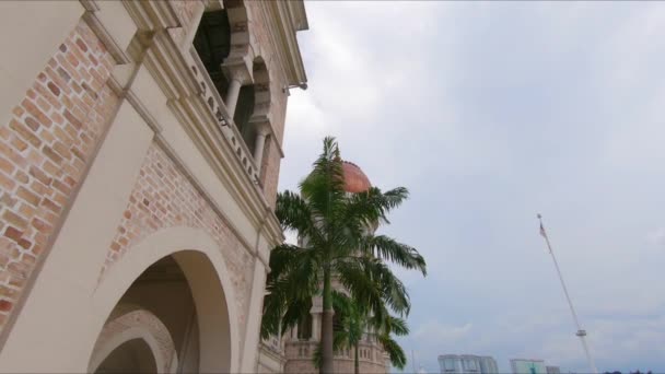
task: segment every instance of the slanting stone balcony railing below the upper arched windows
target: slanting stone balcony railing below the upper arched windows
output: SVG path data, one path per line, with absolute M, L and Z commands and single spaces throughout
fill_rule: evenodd
M 189 55 L 191 56 L 191 71 L 199 82 L 202 91 L 201 96 L 207 103 L 208 109 L 218 121 L 219 130 L 229 141 L 229 144 L 232 147 L 238 162 L 243 165 L 247 175 L 249 175 L 249 178 L 260 186 L 260 168 L 256 165 L 253 153 L 249 151 L 241 132 L 237 130 L 237 127 L 233 121 L 233 116 L 229 115 L 224 101 L 217 91 L 214 83 L 210 79 L 206 67 L 194 46 L 189 48 Z

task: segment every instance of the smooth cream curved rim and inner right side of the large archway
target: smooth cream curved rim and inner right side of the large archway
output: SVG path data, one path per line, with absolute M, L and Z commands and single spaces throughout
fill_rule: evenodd
M 199 326 L 205 326 L 199 330 L 199 371 L 237 372 L 241 339 L 233 283 L 218 244 L 199 229 L 163 229 L 115 262 L 92 295 L 94 315 L 102 317 L 95 322 L 96 330 L 102 330 L 132 282 L 166 256 L 172 256 L 185 274 Z

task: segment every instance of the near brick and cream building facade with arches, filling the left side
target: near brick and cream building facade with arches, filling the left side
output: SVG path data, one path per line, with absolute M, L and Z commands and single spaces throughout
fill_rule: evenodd
M 302 1 L 0 2 L 0 371 L 256 372 Z

